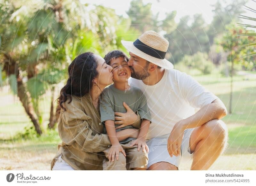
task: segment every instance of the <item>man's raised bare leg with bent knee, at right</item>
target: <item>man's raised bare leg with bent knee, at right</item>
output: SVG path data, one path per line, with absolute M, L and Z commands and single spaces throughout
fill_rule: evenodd
M 207 170 L 225 150 L 228 129 L 221 120 L 211 120 L 193 130 L 190 151 L 194 152 L 191 170 Z

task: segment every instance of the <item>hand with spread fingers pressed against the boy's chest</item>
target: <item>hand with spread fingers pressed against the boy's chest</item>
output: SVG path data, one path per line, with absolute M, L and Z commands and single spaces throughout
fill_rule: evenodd
M 132 109 L 126 104 L 123 103 L 124 108 L 126 108 L 127 112 L 122 113 L 122 112 L 115 112 L 115 124 L 119 124 L 120 126 L 116 127 L 118 128 L 123 128 L 127 125 L 132 125 L 137 121 L 138 116 L 136 113 L 132 111 Z

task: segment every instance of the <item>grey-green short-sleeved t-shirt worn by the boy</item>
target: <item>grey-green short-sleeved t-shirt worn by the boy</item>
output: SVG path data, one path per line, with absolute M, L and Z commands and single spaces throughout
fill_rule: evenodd
M 104 121 L 115 120 L 114 112 L 127 112 L 123 102 L 125 102 L 133 112 L 138 111 L 141 119 L 146 119 L 151 122 L 151 115 L 148 109 L 147 99 L 143 92 L 131 86 L 129 90 L 123 91 L 116 89 L 114 85 L 110 85 L 102 91 L 100 97 L 100 119 L 104 126 L 104 133 L 107 134 Z M 115 125 L 118 127 L 119 125 Z M 116 132 L 124 130 L 126 128 L 133 128 L 132 125 L 128 125 L 124 128 L 116 129 Z M 126 143 L 134 138 L 127 138 L 119 143 Z

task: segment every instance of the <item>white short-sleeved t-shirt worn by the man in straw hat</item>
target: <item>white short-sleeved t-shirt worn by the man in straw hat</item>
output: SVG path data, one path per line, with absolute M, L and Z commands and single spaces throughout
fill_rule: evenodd
M 174 125 L 195 114 L 218 97 L 207 91 L 190 75 L 178 70 L 164 70 L 164 76 L 155 85 L 129 78 L 129 83 L 142 90 L 151 113 L 146 139 L 170 134 Z

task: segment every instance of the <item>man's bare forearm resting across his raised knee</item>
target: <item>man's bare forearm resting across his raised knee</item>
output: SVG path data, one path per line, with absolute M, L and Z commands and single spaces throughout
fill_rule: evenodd
M 187 128 L 196 128 L 204 123 L 225 117 L 227 115 L 227 108 L 220 99 L 215 99 L 209 105 L 204 106 L 194 115 L 188 117 L 187 119 L 181 120 L 176 125 L 185 130 Z

